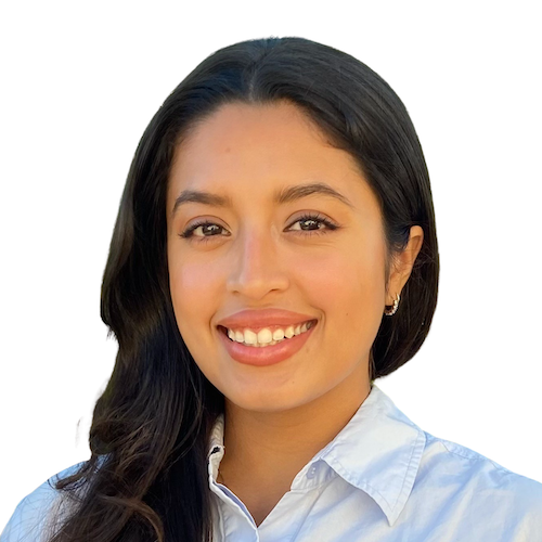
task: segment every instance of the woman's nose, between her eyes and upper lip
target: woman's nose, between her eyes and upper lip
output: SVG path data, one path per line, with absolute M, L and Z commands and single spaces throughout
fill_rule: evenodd
M 269 231 L 240 233 L 230 256 L 228 292 L 260 300 L 288 287 L 286 262 Z

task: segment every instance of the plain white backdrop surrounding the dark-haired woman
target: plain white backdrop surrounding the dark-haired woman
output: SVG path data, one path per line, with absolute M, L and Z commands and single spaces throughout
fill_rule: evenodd
M 4 2 L 0 14 L 0 529 L 86 460 L 116 344 L 100 285 L 130 160 L 215 50 L 301 36 L 405 103 L 431 176 L 439 302 L 377 380 L 425 430 L 542 480 L 538 2 Z

